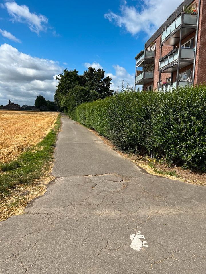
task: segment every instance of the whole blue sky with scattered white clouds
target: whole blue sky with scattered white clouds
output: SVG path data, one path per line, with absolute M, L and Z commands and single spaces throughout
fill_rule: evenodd
M 103 68 L 134 85 L 136 53 L 181 1 L 0 1 L 0 104 L 52 100 L 63 68 Z M 154 10 L 161 10 L 161 16 Z

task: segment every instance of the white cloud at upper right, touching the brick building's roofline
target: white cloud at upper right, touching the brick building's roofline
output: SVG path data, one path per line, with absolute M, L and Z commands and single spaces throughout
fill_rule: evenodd
M 120 6 L 120 15 L 109 11 L 104 15 L 110 22 L 114 22 L 118 27 L 124 27 L 132 35 L 146 33 L 152 35 L 158 27 L 170 16 L 182 0 L 169 2 L 163 0 L 142 0 L 136 1 L 136 6 L 129 6 L 126 1 Z

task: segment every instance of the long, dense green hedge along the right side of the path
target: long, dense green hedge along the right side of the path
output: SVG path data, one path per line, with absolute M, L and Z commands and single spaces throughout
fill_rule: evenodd
M 206 86 L 125 91 L 81 104 L 74 118 L 120 150 L 206 170 Z

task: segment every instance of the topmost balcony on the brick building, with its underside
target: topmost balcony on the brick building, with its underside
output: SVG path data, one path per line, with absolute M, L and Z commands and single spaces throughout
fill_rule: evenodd
M 179 42 L 182 23 L 182 39 L 197 28 L 197 14 L 183 13 L 162 33 L 162 45 L 175 45 Z

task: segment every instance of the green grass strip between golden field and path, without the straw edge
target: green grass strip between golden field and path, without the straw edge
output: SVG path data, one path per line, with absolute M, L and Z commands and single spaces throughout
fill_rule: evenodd
M 60 126 L 59 114 L 54 128 L 41 142 L 22 153 L 17 160 L 0 163 L 0 200 L 3 195 L 10 195 L 17 185 L 32 184 L 35 179 L 43 175 L 44 171 L 49 169 Z

